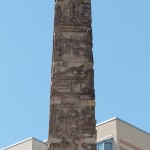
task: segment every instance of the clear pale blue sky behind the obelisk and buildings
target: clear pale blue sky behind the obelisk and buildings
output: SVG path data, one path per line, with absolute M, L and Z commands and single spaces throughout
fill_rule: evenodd
M 150 132 L 150 1 L 92 0 L 97 123 Z M 48 137 L 54 0 L 0 1 L 0 148 Z

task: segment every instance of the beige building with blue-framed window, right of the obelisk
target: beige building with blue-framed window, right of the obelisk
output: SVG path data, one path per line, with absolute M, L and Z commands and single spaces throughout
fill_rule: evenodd
M 150 134 L 119 118 L 96 128 L 97 150 L 150 150 Z

